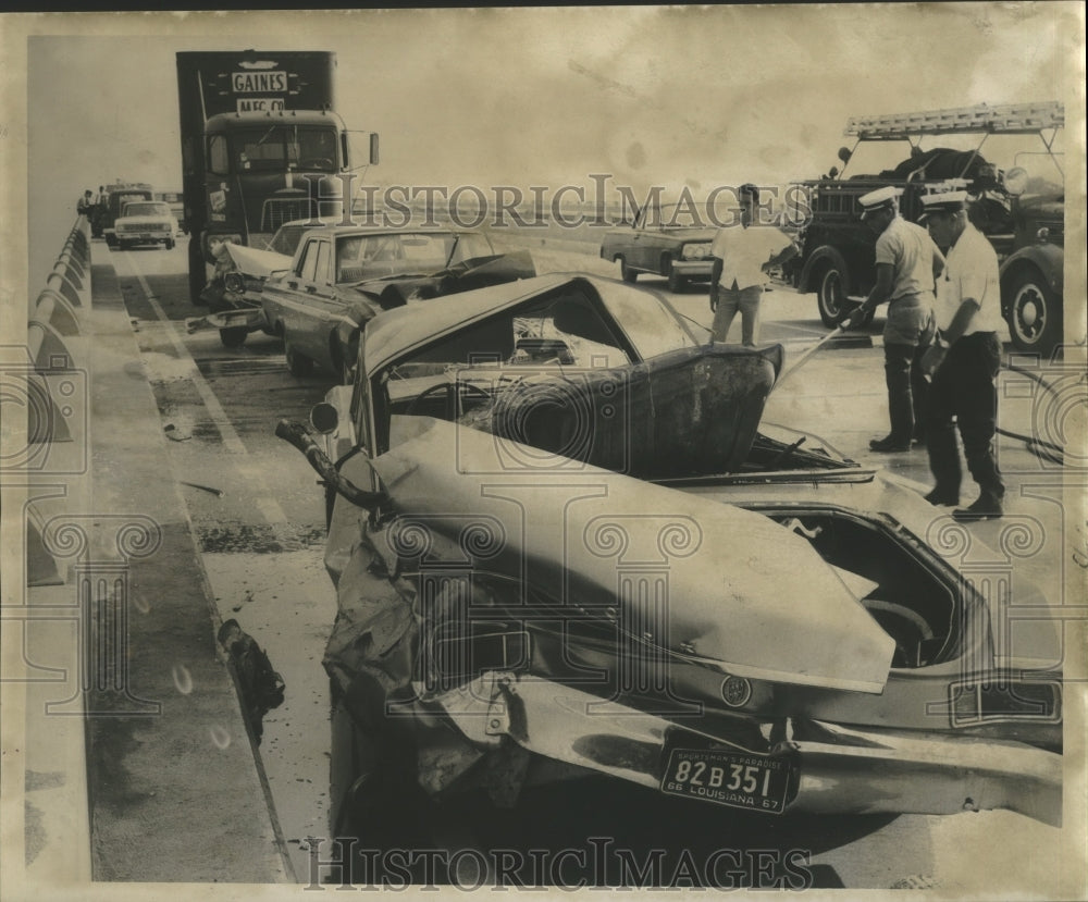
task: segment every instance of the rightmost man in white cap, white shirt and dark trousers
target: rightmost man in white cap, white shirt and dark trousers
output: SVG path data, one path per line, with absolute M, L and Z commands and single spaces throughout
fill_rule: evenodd
M 934 240 L 947 248 L 944 271 L 937 282 L 940 337 L 926 351 L 923 369 L 932 373 L 926 419 L 929 469 L 937 484 L 926 495 L 935 505 L 960 504 L 960 452 L 979 486 L 978 498 L 956 508 L 957 520 L 1002 515 L 1004 482 L 993 457 L 1001 368 L 1001 286 L 993 246 L 967 219 L 967 193 L 945 183 L 923 197 L 923 220 Z M 954 421 L 954 424 L 953 424 Z

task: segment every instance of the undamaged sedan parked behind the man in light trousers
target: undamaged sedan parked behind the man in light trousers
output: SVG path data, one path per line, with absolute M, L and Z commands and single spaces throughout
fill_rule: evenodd
M 684 208 L 647 205 L 631 225 L 605 233 L 601 257 L 619 263 L 625 282 L 633 283 L 640 273 L 648 272 L 666 276 L 670 292 L 682 292 L 691 281 L 709 281 L 716 232 L 695 222 Z

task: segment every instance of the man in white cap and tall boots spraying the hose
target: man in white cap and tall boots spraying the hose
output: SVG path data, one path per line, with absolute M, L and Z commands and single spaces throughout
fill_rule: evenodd
M 922 357 L 937 328 L 934 320 L 934 280 L 944 258 L 926 230 L 899 214 L 902 191 L 888 186 L 858 198 L 862 220 L 877 235 L 877 281 L 867 298 L 846 321 L 858 325 L 887 301 L 885 322 L 885 382 L 891 431 L 874 438 L 875 452 L 905 452 L 924 432 L 927 385 Z

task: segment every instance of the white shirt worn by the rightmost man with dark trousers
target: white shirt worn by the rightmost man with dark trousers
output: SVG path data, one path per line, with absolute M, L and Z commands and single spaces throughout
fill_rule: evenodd
M 1001 282 L 998 255 L 986 237 L 969 222 L 944 260 L 937 280 L 937 325 L 948 329 L 965 298 L 974 298 L 978 310 L 964 335 L 1001 330 Z

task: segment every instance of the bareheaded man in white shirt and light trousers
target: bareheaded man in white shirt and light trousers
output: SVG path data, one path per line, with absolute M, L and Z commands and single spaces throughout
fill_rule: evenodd
M 741 185 L 740 225 L 718 230 L 710 245 L 714 269 L 710 272 L 710 310 L 714 323 L 710 341 L 725 342 L 738 310 L 741 314 L 741 343 L 755 347 L 759 337 L 759 299 L 769 281 L 767 270 L 793 257 L 798 249 L 772 225 L 754 223 L 759 188 Z

